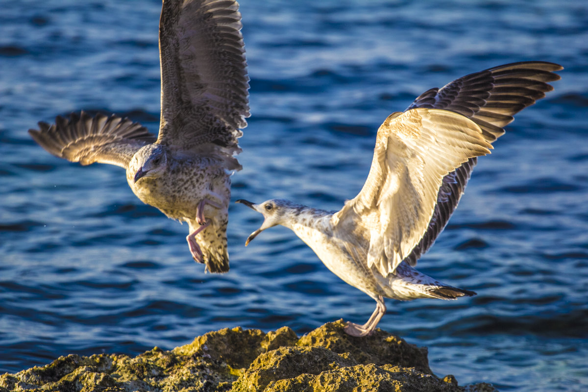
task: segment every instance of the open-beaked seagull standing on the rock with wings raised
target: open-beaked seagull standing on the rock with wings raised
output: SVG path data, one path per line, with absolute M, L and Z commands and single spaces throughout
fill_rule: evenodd
M 441 283 L 415 268 L 457 207 L 477 157 L 490 153 L 513 115 L 543 98 L 562 66 L 516 62 L 456 79 L 420 95 L 389 115 L 377 130 L 368 179 L 339 211 L 285 199 L 255 204 L 264 217 L 260 232 L 291 229 L 336 276 L 368 294 L 376 309 L 345 331 L 366 336 L 386 313 L 384 297 L 457 299 L 470 290 Z

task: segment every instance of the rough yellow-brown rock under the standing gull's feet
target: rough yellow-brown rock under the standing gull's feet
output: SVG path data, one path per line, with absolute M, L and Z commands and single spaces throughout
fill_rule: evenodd
M 0 392 L 496 391 L 490 384 L 460 387 L 452 375 L 436 377 L 425 348 L 385 331 L 357 338 L 343 327 L 342 320 L 327 323 L 300 338 L 288 327 L 269 333 L 226 328 L 134 358 L 69 355 L 0 376 Z

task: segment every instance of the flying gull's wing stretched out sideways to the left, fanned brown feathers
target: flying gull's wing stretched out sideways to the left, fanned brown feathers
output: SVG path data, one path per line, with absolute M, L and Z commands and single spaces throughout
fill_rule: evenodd
M 29 129 L 35 142 L 58 158 L 82 165 L 111 163 L 126 169 L 137 150 L 155 142 L 155 135 L 141 124 L 114 115 L 72 113 L 69 119 L 58 116 L 51 126 L 39 122 L 39 128 Z

